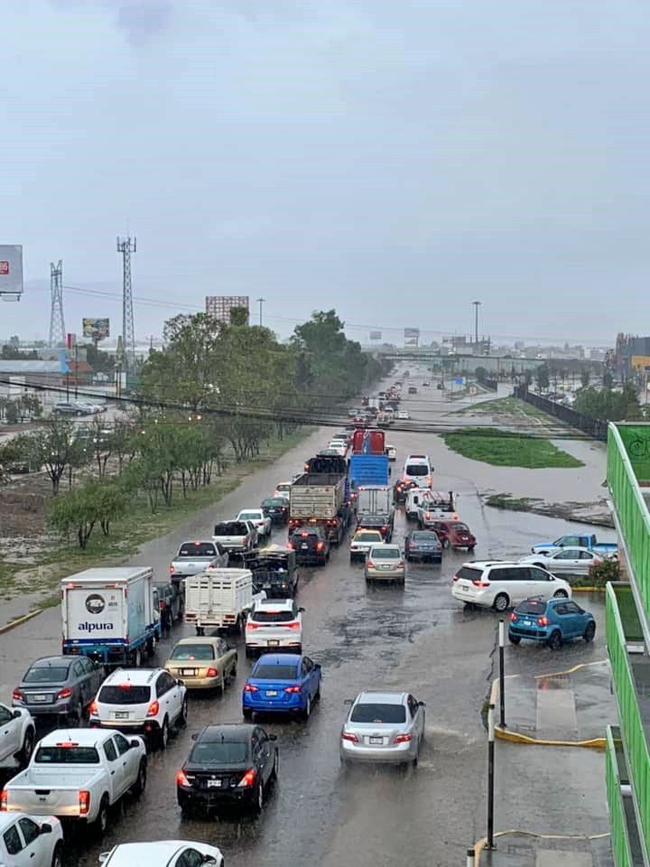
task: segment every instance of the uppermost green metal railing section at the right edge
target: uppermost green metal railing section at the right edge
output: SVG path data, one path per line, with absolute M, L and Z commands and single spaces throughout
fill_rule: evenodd
M 645 443 L 647 435 L 648 425 L 625 426 L 625 440 L 631 454 L 634 455 L 635 443 Z M 616 424 L 609 424 L 607 473 L 618 523 L 625 536 L 630 565 L 634 572 L 634 582 L 644 601 L 647 619 L 650 618 L 650 516 L 636 483 L 633 462 Z

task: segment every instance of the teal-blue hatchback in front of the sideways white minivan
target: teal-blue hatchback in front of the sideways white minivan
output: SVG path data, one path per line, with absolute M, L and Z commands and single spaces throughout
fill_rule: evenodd
M 553 650 L 567 639 L 593 641 L 596 620 L 571 599 L 527 599 L 510 615 L 508 638 L 512 644 L 521 639 L 543 641 Z

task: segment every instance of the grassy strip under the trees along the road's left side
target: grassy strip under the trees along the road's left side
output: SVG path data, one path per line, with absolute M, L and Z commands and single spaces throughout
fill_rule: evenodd
M 238 488 L 246 476 L 288 452 L 311 430 L 304 428 L 285 436 L 282 441 L 271 441 L 256 458 L 231 464 L 224 475 L 213 476 L 207 487 L 188 490 L 186 498 L 182 496 L 179 482 L 169 508 L 161 503 L 152 514 L 145 496 L 134 498 L 125 517 L 111 524 L 110 536 L 104 536 L 101 529 L 95 527 L 88 547 L 83 551 L 76 537 L 72 537 L 68 544 L 64 543 L 42 555 L 38 565 L 0 560 L 0 595 L 6 600 L 23 593 L 42 592 L 48 595 L 32 607 L 51 608 L 57 605 L 58 594 L 53 596 L 52 592 L 58 588 L 61 578 L 98 565 L 125 563 L 135 555 L 140 545 L 164 536 L 200 510 L 216 505 L 226 494 Z

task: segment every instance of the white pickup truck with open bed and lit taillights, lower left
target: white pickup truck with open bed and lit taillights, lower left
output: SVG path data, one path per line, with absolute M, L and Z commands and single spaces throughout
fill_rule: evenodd
M 27 769 L 5 783 L 0 809 L 57 816 L 94 825 L 104 834 L 109 807 L 146 785 L 142 738 L 111 729 L 58 729 L 36 744 Z

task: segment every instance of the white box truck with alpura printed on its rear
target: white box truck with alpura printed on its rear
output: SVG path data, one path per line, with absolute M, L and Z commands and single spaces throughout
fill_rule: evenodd
M 87 569 L 60 583 L 62 652 L 139 666 L 161 635 L 151 566 Z

